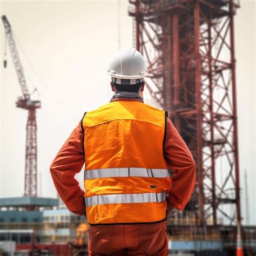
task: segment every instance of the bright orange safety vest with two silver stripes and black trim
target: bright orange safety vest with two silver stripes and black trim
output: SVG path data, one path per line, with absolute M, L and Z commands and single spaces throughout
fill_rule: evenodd
M 171 173 L 164 159 L 166 112 L 118 100 L 85 113 L 85 205 L 89 224 L 166 218 Z

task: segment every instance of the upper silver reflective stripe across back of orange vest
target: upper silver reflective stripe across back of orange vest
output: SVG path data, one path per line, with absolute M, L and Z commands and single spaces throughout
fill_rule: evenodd
M 84 179 L 97 179 L 107 177 L 153 177 L 170 178 L 169 169 L 146 169 L 146 168 L 106 168 L 84 171 Z

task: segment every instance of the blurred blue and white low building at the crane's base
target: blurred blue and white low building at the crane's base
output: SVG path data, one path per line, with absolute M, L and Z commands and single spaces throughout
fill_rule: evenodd
M 71 213 L 60 203 L 53 198 L 0 198 L 0 241 L 29 243 L 30 230 L 35 231 L 36 242 L 75 241 L 76 228 L 86 218 Z

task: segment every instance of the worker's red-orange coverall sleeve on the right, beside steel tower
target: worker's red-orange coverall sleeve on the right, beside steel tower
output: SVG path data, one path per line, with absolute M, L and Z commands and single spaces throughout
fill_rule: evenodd
M 190 200 L 196 183 L 196 164 L 186 143 L 167 118 L 164 153 L 173 172 L 172 190 L 167 198 L 167 208 L 183 210 Z

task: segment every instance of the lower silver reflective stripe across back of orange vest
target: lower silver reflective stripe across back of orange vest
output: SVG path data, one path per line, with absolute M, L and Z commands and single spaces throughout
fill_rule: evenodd
M 86 197 L 87 207 L 102 204 L 127 204 L 127 203 L 160 203 L 165 201 L 165 192 L 161 193 L 141 193 L 141 194 L 102 194 L 98 196 Z

